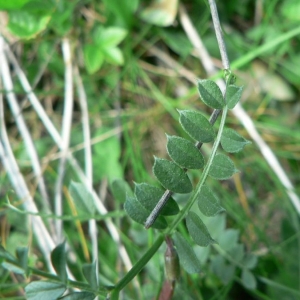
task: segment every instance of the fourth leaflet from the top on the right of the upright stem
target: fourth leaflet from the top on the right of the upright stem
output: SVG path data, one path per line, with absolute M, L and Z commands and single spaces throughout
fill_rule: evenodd
M 219 199 L 206 185 L 202 186 L 197 198 L 200 211 L 207 217 L 215 216 L 216 214 L 225 210 L 220 205 Z

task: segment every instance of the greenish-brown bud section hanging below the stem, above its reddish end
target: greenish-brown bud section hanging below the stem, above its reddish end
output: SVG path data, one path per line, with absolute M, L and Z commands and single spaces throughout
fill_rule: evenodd
M 175 282 L 180 276 L 179 257 L 170 237 L 166 237 L 167 249 L 165 252 L 166 277 L 170 282 Z

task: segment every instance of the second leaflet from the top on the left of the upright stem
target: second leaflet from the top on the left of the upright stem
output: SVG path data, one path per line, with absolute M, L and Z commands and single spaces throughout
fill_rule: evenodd
M 202 143 L 214 140 L 214 129 L 202 114 L 193 110 L 179 110 L 178 112 L 179 122 L 190 137 Z

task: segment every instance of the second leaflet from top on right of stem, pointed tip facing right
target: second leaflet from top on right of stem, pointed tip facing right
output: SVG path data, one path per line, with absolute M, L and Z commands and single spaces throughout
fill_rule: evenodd
M 222 148 L 229 153 L 241 151 L 244 146 L 251 144 L 250 141 L 244 139 L 239 133 L 233 129 L 224 128 L 221 137 Z

